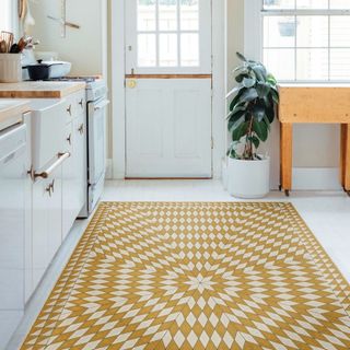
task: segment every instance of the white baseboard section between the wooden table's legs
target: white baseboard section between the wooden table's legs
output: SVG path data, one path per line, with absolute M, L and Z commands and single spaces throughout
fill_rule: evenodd
M 341 190 L 338 167 L 294 167 L 294 190 Z

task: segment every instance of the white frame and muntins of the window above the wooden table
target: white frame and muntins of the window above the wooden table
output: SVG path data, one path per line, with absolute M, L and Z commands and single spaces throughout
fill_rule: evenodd
M 329 0 L 328 0 L 329 3 Z M 253 26 L 253 30 L 250 25 L 248 25 L 248 21 L 252 21 L 252 16 L 249 14 L 253 13 L 253 20 L 255 20 L 255 25 Z M 249 57 L 253 57 L 254 59 L 264 61 L 264 49 L 266 48 L 264 46 L 264 18 L 265 16 L 303 16 L 303 15 L 323 15 L 328 18 L 328 23 L 330 22 L 330 16 L 332 15 L 350 15 L 350 9 L 315 9 L 315 10 L 305 10 L 305 9 L 264 9 L 264 0 L 245 0 L 245 52 Z M 250 22 L 252 24 L 252 22 Z M 249 33 L 250 32 L 250 33 Z M 254 38 L 255 36 L 255 38 Z M 330 79 L 329 72 L 330 72 L 330 50 L 331 47 L 329 45 L 330 43 L 330 31 L 328 27 L 328 46 L 324 47 L 324 49 L 327 49 L 328 52 L 328 79 L 327 80 L 301 80 L 298 79 L 296 74 L 296 35 L 295 35 L 295 45 L 293 47 L 288 47 L 294 50 L 295 59 L 294 59 L 294 79 L 293 80 L 279 80 L 281 83 L 340 83 L 340 84 L 347 84 L 350 82 L 350 78 L 347 80 L 335 80 Z M 255 47 L 254 47 L 255 46 Z M 281 49 L 284 49 L 287 47 L 281 47 Z M 318 47 L 303 47 L 303 48 L 318 48 Z M 350 49 L 349 47 L 346 47 Z M 277 47 L 278 49 L 278 47 Z

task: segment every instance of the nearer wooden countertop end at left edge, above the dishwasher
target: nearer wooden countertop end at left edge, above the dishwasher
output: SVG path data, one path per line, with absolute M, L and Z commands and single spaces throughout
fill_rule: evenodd
M 31 110 L 25 100 L 0 100 L 0 130 L 22 121 L 22 114 Z

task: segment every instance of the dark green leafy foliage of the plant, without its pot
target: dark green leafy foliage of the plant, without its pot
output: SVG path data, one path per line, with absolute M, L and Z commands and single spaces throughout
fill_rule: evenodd
M 268 139 L 279 103 L 277 81 L 262 63 L 236 55 L 243 63 L 234 70 L 237 86 L 228 94 L 232 98 L 228 115 L 232 143 L 228 155 L 260 160 L 257 149 Z

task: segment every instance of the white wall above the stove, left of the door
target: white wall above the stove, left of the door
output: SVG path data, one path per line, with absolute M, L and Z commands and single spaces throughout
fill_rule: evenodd
M 37 50 L 59 52 L 60 59 L 73 63 L 72 74 L 102 74 L 107 59 L 102 39 L 105 1 L 67 0 L 67 21 L 81 28 L 67 27 L 66 38 L 61 37 L 61 25 L 47 18 L 60 18 L 60 0 L 31 1 L 36 25 L 30 33 L 40 40 Z

